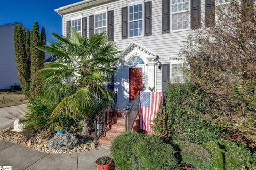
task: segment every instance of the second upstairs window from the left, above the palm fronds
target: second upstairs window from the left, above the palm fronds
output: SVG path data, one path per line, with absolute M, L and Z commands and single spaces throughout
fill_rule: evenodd
M 95 33 L 107 32 L 107 13 L 95 14 Z

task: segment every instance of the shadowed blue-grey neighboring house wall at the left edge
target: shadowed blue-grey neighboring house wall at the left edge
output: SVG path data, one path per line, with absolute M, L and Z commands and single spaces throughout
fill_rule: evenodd
M 20 86 L 13 41 L 14 28 L 20 23 L 0 25 L 0 90 L 10 90 L 15 84 Z

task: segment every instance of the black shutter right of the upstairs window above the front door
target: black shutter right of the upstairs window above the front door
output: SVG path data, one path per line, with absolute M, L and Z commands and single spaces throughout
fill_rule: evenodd
M 145 36 L 152 35 L 152 1 L 145 2 Z

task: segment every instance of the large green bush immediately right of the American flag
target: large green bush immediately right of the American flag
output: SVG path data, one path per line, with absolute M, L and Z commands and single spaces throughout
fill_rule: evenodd
M 172 83 L 166 94 L 166 106 L 154 120 L 156 134 L 194 143 L 218 140 L 224 135 L 220 127 L 201 119 L 206 113 L 205 94 L 193 82 Z

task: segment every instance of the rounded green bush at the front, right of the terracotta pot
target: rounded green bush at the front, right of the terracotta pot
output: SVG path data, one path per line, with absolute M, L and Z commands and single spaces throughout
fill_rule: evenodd
M 179 169 L 174 149 L 159 137 L 125 132 L 116 137 L 110 149 L 120 170 Z

